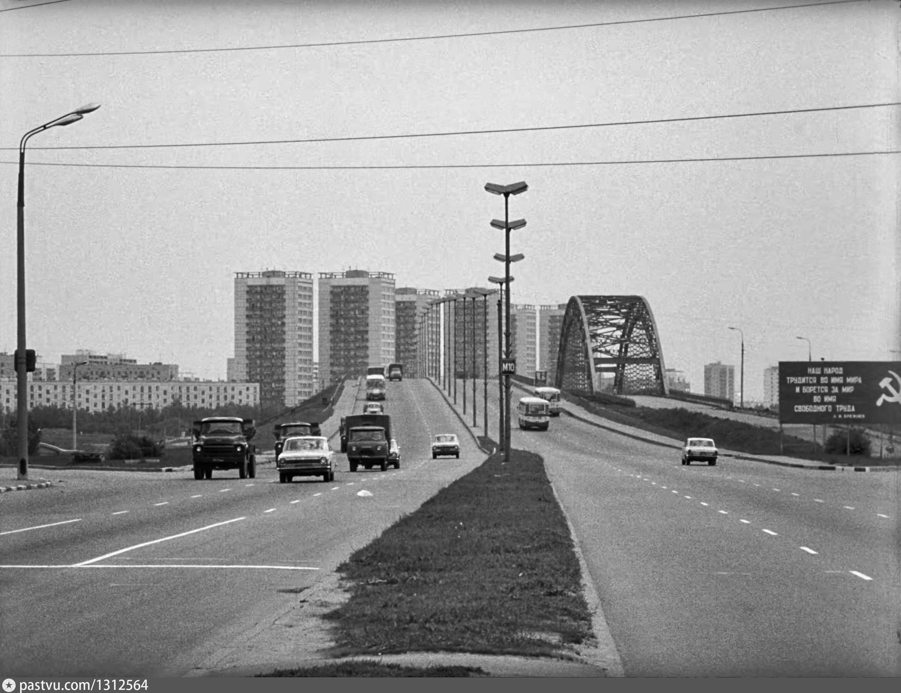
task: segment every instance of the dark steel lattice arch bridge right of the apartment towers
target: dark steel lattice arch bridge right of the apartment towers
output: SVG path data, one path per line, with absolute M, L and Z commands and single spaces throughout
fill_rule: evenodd
M 669 396 L 660 334 L 643 296 L 571 296 L 560 325 L 555 387 L 595 394 L 614 374 L 617 395 Z

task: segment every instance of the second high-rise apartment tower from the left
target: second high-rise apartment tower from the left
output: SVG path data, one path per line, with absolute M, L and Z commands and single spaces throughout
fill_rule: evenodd
M 320 378 L 359 376 L 396 358 L 395 278 L 348 269 L 319 273 Z

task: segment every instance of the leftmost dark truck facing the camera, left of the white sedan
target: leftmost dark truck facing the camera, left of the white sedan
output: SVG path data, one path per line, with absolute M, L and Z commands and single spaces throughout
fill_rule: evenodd
M 250 443 L 253 419 L 209 416 L 192 426 L 194 478 L 213 479 L 213 470 L 238 470 L 241 479 L 257 476 L 257 449 Z

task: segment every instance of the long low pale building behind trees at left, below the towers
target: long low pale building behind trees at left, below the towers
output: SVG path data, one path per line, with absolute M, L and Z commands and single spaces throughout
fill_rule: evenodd
M 16 409 L 18 387 L 15 380 L 0 382 L 0 408 L 5 413 Z M 78 409 L 100 412 L 123 407 L 161 409 L 176 401 L 187 407 L 214 408 L 225 404 L 259 406 L 258 383 L 217 382 L 210 380 L 81 380 L 75 387 Z M 30 382 L 28 408 L 35 406 L 72 406 L 72 381 Z

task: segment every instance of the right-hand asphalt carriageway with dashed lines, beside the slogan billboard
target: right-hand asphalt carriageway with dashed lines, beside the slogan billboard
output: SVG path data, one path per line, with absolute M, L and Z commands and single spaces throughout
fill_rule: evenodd
M 901 675 L 896 473 L 684 467 L 566 415 L 514 418 L 513 446 L 545 459 L 627 676 Z

